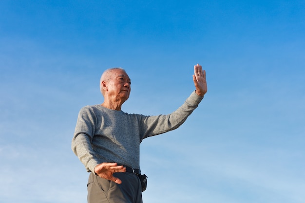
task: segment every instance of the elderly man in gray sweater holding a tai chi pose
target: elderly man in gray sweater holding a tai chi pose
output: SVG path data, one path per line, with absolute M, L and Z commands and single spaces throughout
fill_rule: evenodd
M 178 128 L 207 92 L 206 72 L 194 66 L 195 91 L 168 115 L 144 116 L 121 111 L 131 80 L 121 68 L 106 70 L 100 79 L 104 102 L 79 111 L 72 149 L 91 172 L 88 203 L 142 203 L 139 148 L 144 138 Z

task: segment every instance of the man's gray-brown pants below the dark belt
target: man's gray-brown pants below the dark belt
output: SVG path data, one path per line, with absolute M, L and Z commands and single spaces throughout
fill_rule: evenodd
M 90 173 L 88 203 L 142 203 L 141 182 L 133 173 L 114 173 L 122 181 L 116 184 Z

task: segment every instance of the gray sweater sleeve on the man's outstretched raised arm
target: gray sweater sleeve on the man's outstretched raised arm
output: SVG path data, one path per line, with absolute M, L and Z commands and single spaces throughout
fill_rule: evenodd
M 181 126 L 192 111 L 194 111 L 203 97 L 197 95 L 194 92 L 186 99 L 184 104 L 180 106 L 176 111 L 173 111 L 167 115 L 158 116 L 143 116 L 141 121 L 141 140 L 150 136 L 158 135 L 164 132 L 177 129 Z

